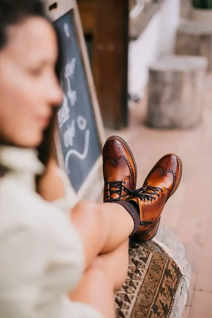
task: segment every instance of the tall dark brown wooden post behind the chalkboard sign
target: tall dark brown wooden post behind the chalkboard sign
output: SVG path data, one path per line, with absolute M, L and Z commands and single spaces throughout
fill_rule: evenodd
M 93 75 L 105 127 L 127 126 L 128 0 L 95 0 Z

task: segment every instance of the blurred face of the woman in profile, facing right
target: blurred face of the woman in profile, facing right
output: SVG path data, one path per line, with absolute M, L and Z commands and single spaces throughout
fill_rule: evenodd
M 21 147 L 36 147 L 52 108 L 62 101 L 55 74 L 58 48 L 50 23 L 30 17 L 8 28 L 0 50 L 0 136 Z

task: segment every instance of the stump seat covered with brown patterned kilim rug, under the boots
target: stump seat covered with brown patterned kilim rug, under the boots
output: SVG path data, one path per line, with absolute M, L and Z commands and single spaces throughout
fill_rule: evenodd
M 132 241 L 127 280 L 116 293 L 117 317 L 180 318 L 190 276 L 184 247 L 165 226 L 152 241 Z

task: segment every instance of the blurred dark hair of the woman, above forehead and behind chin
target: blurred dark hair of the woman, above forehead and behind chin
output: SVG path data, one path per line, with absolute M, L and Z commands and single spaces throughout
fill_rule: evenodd
M 43 17 L 50 21 L 45 15 L 44 4 L 41 0 L 0 0 L 0 50 L 7 44 L 7 28 L 13 24 L 21 23 L 24 19 L 33 16 Z M 57 31 L 56 33 L 58 36 Z M 56 66 L 56 74 L 59 78 L 58 63 Z M 55 109 L 51 124 L 44 131 L 43 142 L 37 148 L 38 158 L 44 163 L 44 165 L 47 164 L 53 149 L 52 139 L 53 129 L 55 128 L 56 123 L 56 111 L 57 110 Z

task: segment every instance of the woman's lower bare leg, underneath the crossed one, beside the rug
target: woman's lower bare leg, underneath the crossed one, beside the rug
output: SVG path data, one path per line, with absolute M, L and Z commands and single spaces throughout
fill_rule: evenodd
M 127 269 L 128 239 L 113 252 L 94 259 L 77 288 L 70 293 L 71 300 L 92 306 L 105 318 L 115 318 L 114 290 L 124 283 Z

